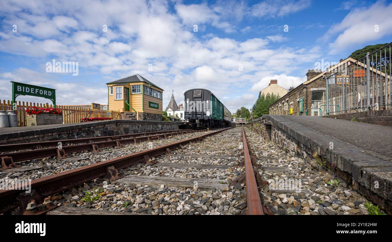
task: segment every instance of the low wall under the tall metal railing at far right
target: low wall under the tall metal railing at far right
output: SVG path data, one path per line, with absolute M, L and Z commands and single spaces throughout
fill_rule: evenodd
M 342 118 L 346 120 L 355 119 L 358 122 L 392 126 L 392 109 L 345 113 L 339 115 L 327 115 L 323 117 Z

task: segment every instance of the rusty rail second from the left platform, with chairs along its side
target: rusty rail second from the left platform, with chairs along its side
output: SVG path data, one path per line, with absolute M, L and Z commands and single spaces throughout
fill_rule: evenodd
M 146 140 L 154 140 L 159 138 L 167 138 L 168 135 L 179 134 L 179 133 L 193 133 L 199 132 L 202 130 L 184 130 L 178 132 L 172 132 L 167 134 L 157 134 L 152 136 L 141 136 L 135 138 L 125 138 L 122 140 L 107 140 L 102 142 L 92 142 L 92 143 L 83 143 L 79 145 L 63 145 L 62 149 L 47 148 L 47 149 L 36 149 L 30 151 L 20 151 L 20 152 L 11 152 L 11 153 L 2 153 L 0 154 L 0 158 L 2 161 L 2 166 L 0 169 L 5 170 L 9 168 L 15 167 L 15 162 L 26 161 L 26 160 L 34 160 L 45 157 L 57 156 L 58 159 L 66 158 L 66 154 L 82 152 L 82 151 L 92 151 L 98 152 L 100 148 L 106 147 L 120 147 L 121 145 L 143 142 Z M 61 141 L 58 141 L 61 142 Z

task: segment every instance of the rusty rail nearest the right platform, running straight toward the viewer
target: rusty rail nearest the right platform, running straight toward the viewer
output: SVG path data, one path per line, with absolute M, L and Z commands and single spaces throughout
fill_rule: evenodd
M 261 205 L 259 189 L 256 184 L 256 177 L 254 176 L 252 161 L 248 149 L 245 129 L 242 127 L 242 142 L 245 163 L 245 182 L 246 182 L 246 201 L 248 208 L 248 215 L 264 215 L 263 207 Z

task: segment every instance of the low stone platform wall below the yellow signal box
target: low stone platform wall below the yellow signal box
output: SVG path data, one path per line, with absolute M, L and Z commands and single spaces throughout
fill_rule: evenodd
M 142 120 L 108 120 L 77 124 L 41 125 L 7 128 L 9 133 L 0 134 L 1 144 L 65 140 L 73 138 L 111 136 L 178 129 L 181 122 Z M 4 129 L 6 131 L 6 129 Z

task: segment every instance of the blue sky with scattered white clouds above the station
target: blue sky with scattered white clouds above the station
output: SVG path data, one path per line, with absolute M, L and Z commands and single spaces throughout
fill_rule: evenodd
M 138 73 L 165 90 L 163 109 L 172 90 L 180 103 L 206 88 L 234 113 L 270 79 L 289 89 L 320 63 L 390 43 L 391 13 L 391 0 L 1 0 L 0 99 L 16 81 L 55 88 L 58 105 L 107 104 L 105 83 Z M 53 60 L 78 68 L 51 72 Z

